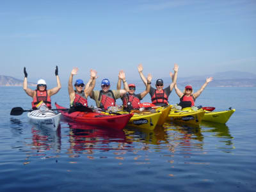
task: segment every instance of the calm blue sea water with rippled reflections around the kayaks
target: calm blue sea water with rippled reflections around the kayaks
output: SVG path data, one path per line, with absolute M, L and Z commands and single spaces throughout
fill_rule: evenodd
M 256 88 L 205 89 L 196 104 L 236 108 L 226 125 L 116 132 L 62 120 L 52 132 L 29 124 L 26 113 L 10 116 L 31 99 L 20 87 L 0 87 L 0 191 L 256 191 L 255 95 Z M 68 107 L 67 88 L 52 102 Z M 179 102 L 175 92 L 170 102 Z

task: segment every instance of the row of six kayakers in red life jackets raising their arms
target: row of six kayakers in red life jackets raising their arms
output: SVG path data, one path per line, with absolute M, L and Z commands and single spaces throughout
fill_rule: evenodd
M 172 83 L 164 88 L 163 79 L 157 79 L 156 88 L 151 86 L 152 76 L 148 74 L 147 78 L 143 75 L 143 65 L 140 63 L 138 65 L 138 72 L 140 77 L 145 84 L 145 91 L 141 93 L 135 93 L 136 85 L 134 83 L 128 84 L 125 79 L 125 72 L 121 70 L 118 74 L 118 83 L 116 90 L 110 89 L 109 79 L 102 79 L 101 90 L 94 90 L 95 82 L 97 79 L 97 71 L 90 70 L 90 80 L 88 83 L 84 84 L 82 79 L 76 79 L 73 86 L 73 76 L 76 76 L 78 68 L 73 68 L 70 77 L 68 79 L 68 95 L 70 99 L 70 113 L 72 111 L 77 111 L 83 109 L 84 106 L 88 106 L 88 96 L 95 100 L 96 106 L 102 110 L 106 110 L 111 106 L 116 105 L 116 99 L 121 98 L 123 101 L 124 109 L 138 109 L 140 108 L 140 100 L 150 93 L 152 104 L 156 106 L 166 106 L 168 105 L 168 97 L 175 88 L 175 92 L 180 98 L 179 105 L 182 108 L 195 106 L 195 100 L 204 90 L 205 86 L 212 81 L 212 77 L 207 77 L 203 86 L 197 92 L 193 93 L 193 88 L 191 85 L 185 86 L 184 92 L 181 92 L 177 87 L 177 74 L 179 66 L 174 65 L 174 74 L 170 72 L 170 77 L 172 78 Z M 36 105 L 40 101 L 44 101 L 46 106 L 51 109 L 51 96 L 58 93 L 61 89 L 60 77 L 58 76 L 58 66 L 55 69 L 55 75 L 57 79 L 57 86 L 47 90 L 47 84 L 44 79 L 39 79 L 37 82 L 36 90 L 31 90 L 28 88 L 28 73 L 26 72 L 26 67 L 24 67 L 24 91 L 33 98 L 32 108 L 36 109 Z M 121 89 L 121 81 L 124 84 L 124 89 Z

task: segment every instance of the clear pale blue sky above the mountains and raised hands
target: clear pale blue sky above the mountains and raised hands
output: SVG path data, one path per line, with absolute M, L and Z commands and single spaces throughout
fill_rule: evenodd
M 256 1 L 0 1 L 0 75 L 66 83 L 256 70 Z

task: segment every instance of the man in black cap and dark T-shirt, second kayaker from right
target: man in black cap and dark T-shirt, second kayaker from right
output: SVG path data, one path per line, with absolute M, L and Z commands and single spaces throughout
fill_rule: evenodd
M 176 83 L 179 66 L 177 64 L 174 64 L 173 70 L 174 70 L 173 82 L 170 84 L 170 86 L 163 88 L 164 87 L 163 79 L 157 79 L 156 89 L 153 88 L 152 86 L 150 87 L 149 93 L 151 96 L 152 104 L 155 104 L 156 106 L 168 105 L 168 97 L 169 97 L 170 93 L 172 92 L 173 87 Z M 143 75 L 142 71 L 143 71 L 143 66 L 140 63 L 140 65 L 138 66 L 138 72 L 140 74 L 140 77 L 141 77 L 143 83 L 145 84 L 145 86 L 147 86 L 147 79 Z M 170 76 L 172 77 L 172 72 L 170 72 Z

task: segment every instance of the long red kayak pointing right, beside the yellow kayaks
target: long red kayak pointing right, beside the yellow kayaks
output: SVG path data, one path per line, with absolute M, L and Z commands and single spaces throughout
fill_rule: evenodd
M 57 109 L 67 109 L 59 106 L 55 103 Z M 129 122 L 132 117 L 132 113 L 124 115 L 105 115 L 100 112 L 93 111 L 90 112 L 80 112 L 76 111 L 73 113 L 68 113 L 67 111 L 60 110 L 60 113 L 74 122 L 83 123 L 85 125 L 95 126 L 95 127 L 104 127 L 107 129 L 124 129 L 125 125 Z

